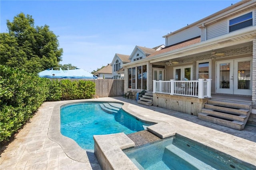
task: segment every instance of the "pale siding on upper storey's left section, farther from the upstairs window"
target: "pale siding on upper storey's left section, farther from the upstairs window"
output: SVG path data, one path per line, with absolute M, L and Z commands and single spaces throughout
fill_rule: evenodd
M 169 37 L 166 37 L 166 46 L 173 45 L 175 43 L 183 42 L 191 38 L 195 38 L 201 35 L 201 29 L 197 26 L 193 26 Z

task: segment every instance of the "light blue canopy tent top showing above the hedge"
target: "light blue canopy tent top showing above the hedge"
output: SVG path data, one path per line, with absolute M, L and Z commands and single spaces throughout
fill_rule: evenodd
M 56 79 L 97 79 L 96 75 L 92 75 L 88 71 L 83 69 L 67 69 L 62 70 L 60 67 L 58 68 L 49 68 L 44 71 L 38 73 L 39 77 L 45 78 L 56 78 Z

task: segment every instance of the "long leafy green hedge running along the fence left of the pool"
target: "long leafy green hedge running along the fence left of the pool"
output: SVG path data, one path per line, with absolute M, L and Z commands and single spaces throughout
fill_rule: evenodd
M 50 80 L 0 65 L 0 141 L 9 140 L 44 101 L 91 99 L 92 81 Z

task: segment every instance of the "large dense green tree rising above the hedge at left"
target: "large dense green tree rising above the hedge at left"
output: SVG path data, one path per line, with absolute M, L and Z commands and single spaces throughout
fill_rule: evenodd
M 49 26 L 34 27 L 32 16 L 21 12 L 12 22 L 7 20 L 7 28 L 8 33 L 0 33 L 2 65 L 30 73 L 58 67 L 63 49 Z

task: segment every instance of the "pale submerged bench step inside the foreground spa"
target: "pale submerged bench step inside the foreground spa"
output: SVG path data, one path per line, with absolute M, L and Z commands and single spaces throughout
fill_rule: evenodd
M 170 144 L 165 147 L 164 154 L 171 155 L 171 156 L 178 156 L 178 157 L 182 158 L 183 160 L 185 160 L 186 162 L 188 162 L 188 164 L 191 164 L 192 166 L 194 166 L 197 169 L 209 169 L 209 170 L 214 169 L 214 168 L 212 168 L 212 166 L 204 163 L 203 161 L 195 158 L 194 156 L 191 156 L 190 154 L 188 154 L 184 150 L 174 146 L 173 144 Z M 167 162 L 169 162 L 169 160 L 166 160 L 164 162 L 166 164 L 168 164 Z M 183 163 L 186 164 L 186 162 L 183 162 Z M 170 162 L 170 163 L 174 164 L 174 162 Z M 176 162 L 177 165 L 179 163 L 180 162 Z

